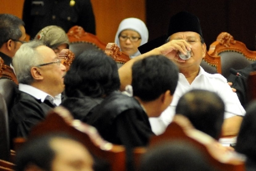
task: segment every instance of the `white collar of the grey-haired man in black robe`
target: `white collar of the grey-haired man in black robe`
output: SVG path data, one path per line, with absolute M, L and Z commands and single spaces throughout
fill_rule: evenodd
M 42 90 L 37 89 L 37 88 L 35 88 L 31 85 L 27 85 L 27 84 L 19 83 L 19 90 L 30 94 L 31 96 L 35 97 L 36 99 L 40 99 L 42 102 L 45 100 L 46 96 L 51 96 L 51 95 L 43 92 Z M 61 103 L 61 94 L 58 94 L 57 96 L 53 97 L 53 102 L 56 105 L 60 105 L 60 103 Z

